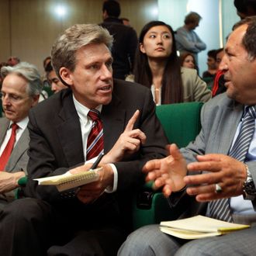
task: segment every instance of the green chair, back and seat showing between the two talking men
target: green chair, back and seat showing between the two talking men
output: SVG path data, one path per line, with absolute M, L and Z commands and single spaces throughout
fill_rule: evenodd
M 160 119 L 169 143 L 185 147 L 195 140 L 201 129 L 200 112 L 202 102 L 185 102 L 157 106 Z M 178 216 L 171 213 L 167 199 L 161 191 L 153 191 L 152 183 L 147 183 L 133 201 L 133 229 L 162 220 L 174 220 Z

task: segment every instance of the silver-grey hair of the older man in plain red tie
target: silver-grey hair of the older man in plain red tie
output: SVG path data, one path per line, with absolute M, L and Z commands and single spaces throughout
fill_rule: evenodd
M 2 78 L 5 78 L 8 74 L 17 74 L 18 76 L 28 81 L 26 92 L 28 93 L 29 97 L 40 95 L 42 92 L 43 82 L 35 65 L 29 64 L 27 62 L 20 62 L 13 67 L 2 67 Z

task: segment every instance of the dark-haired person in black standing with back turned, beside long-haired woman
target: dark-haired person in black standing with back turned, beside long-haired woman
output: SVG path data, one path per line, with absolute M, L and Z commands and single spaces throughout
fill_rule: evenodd
M 125 79 L 126 75 L 132 72 L 138 39 L 136 31 L 130 26 L 125 26 L 122 19 L 119 19 L 120 12 L 119 2 L 112 0 L 103 2 L 101 26 L 108 29 L 114 37 L 113 78 Z

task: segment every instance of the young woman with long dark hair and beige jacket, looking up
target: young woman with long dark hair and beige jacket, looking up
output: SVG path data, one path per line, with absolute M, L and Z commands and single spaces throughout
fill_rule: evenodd
M 191 68 L 180 66 L 174 32 L 161 21 L 147 23 L 140 32 L 134 63 L 136 81 L 151 89 L 157 105 L 176 102 L 206 102 L 211 92 Z

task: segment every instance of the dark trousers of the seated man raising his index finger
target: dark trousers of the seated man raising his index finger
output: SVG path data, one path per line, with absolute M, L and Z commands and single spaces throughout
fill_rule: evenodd
M 39 199 L 10 203 L 0 211 L 1 255 L 116 255 L 126 238 L 122 229 L 101 220 L 87 229 L 88 216 L 83 221 L 75 209 L 67 212 L 70 217 Z

